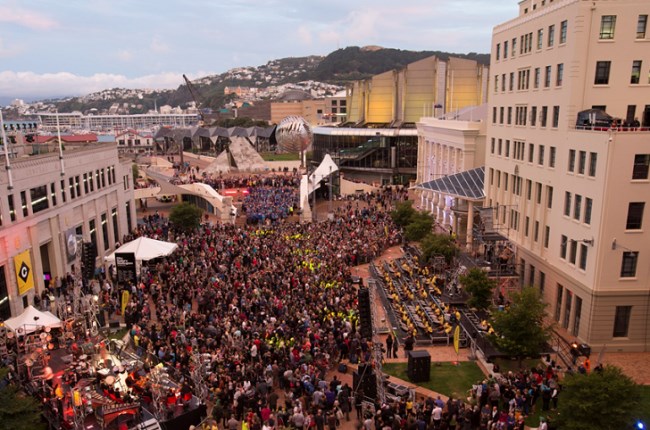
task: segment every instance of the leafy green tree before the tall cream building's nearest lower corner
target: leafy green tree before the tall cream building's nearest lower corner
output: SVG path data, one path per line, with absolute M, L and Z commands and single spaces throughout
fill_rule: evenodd
M 513 293 L 510 305 L 492 316 L 492 342 L 520 364 L 525 357 L 539 356 L 550 338 L 550 326 L 544 323 L 546 306 L 534 288 Z

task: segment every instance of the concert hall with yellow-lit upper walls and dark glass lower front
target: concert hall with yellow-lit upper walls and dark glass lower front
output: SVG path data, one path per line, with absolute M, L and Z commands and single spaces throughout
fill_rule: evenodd
M 416 122 L 485 103 L 487 82 L 486 66 L 435 56 L 355 81 L 347 88 L 346 122 L 314 128 L 314 162 L 330 154 L 351 179 L 415 182 Z

